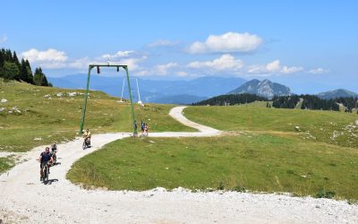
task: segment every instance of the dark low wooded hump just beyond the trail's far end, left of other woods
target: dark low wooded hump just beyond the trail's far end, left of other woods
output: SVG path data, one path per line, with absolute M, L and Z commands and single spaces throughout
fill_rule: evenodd
M 268 101 L 268 99 L 249 93 L 228 94 L 228 95 L 220 95 L 210 99 L 205 99 L 200 102 L 193 103 L 192 105 L 193 106 L 200 106 L 200 105 L 229 106 L 229 105 L 251 103 L 254 101 Z

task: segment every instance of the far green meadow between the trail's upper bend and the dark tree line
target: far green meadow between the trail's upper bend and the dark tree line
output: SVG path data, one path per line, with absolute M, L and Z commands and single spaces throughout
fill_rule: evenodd
M 358 146 L 356 114 L 251 106 L 190 107 L 184 112 L 192 121 L 219 130 L 295 133 L 305 140 Z M 299 126 L 301 132 L 295 131 L 295 126 Z

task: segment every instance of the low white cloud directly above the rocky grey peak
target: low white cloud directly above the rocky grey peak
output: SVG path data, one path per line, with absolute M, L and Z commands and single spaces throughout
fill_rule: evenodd
M 273 73 L 298 73 L 303 71 L 302 66 L 292 66 L 288 67 L 287 65 L 280 65 L 279 60 L 275 60 L 266 65 L 250 65 L 247 68 L 248 73 L 254 74 L 273 74 Z

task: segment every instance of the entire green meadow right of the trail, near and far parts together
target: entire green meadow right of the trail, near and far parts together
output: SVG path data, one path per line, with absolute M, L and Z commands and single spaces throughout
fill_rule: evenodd
M 216 138 L 112 142 L 76 162 L 68 177 L 74 183 L 110 189 L 243 186 L 252 191 L 316 195 L 322 188 L 334 191 L 337 198 L 358 199 L 358 151 L 348 142 L 354 139 L 345 136 L 356 133 L 345 126 L 357 116 L 259 104 L 191 107 L 184 112 L 201 124 L 243 132 Z M 296 132 L 295 125 L 302 131 Z M 334 141 L 330 136 L 335 131 L 344 135 Z

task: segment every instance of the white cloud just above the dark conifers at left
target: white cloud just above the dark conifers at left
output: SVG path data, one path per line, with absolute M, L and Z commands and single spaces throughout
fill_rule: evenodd
M 64 63 L 68 58 L 64 51 L 58 51 L 53 48 L 49 48 L 45 51 L 32 48 L 22 52 L 21 56 L 28 59 L 31 63 L 44 62 L 46 64 L 50 64 L 51 62 L 55 64 Z

